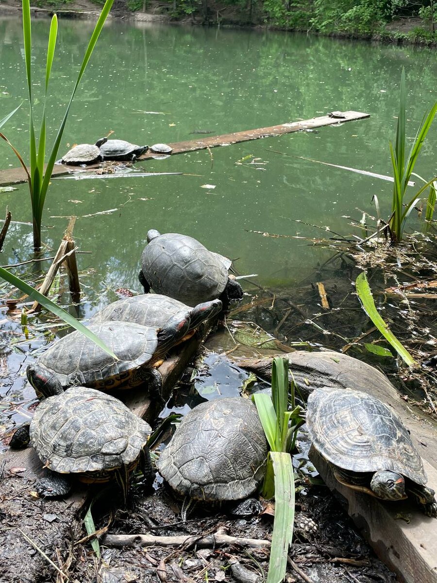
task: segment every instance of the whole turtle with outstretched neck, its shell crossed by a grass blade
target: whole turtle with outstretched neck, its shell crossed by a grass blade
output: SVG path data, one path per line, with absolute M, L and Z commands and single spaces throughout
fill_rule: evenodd
M 102 322 L 89 330 L 118 357 L 114 360 L 81 332 L 72 332 L 55 342 L 26 369 L 37 396 L 61 394 L 73 385 L 112 389 L 136 387 L 149 381 L 149 391 L 163 403 L 162 378 L 156 367 L 165 353 L 189 328 L 188 312 L 179 312 L 161 328 L 133 322 Z

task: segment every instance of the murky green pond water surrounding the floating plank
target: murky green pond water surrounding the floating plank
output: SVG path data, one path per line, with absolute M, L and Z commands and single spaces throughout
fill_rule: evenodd
M 37 119 L 49 24 L 45 19 L 33 21 Z M 59 22 L 47 108 L 50 138 L 64 114 L 92 29 L 93 23 L 83 20 Z M 0 19 L 0 64 L 0 118 L 23 101 L 2 131 L 27 159 L 27 85 L 18 19 Z M 147 160 L 123 178 L 53 180 L 43 217 L 43 241 L 57 248 L 68 217 L 76 215 L 76 244 L 91 251 L 79 255 L 79 269 L 86 271 L 80 315 L 90 315 L 98 305 L 117 299 L 117 287 L 140 291 L 139 258 L 150 228 L 196 237 L 211 250 L 236 259 L 239 273 L 258 274 L 259 285 L 292 289 L 329 257 L 327 251 L 304 239 L 268 238 L 249 231 L 326 235 L 325 230 L 295 222 L 300 220 L 348 233 L 344 216 L 359 220 L 362 210 L 374 214 L 375 194 L 387 217 L 392 197 L 389 182 L 297 156 L 390 174 L 388 142 L 394 139 L 403 66 L 408 135 L 413 138 L 422 115 L 436 99 L 437 59 L 435 51 L 427 48 L 259 30 L 108 24 L 73 103 L 60 154 L 74 143 L 93 143 L 110 131 L 113 138 L 150 145 L 199 138 L 194 131 L 226 134 L 333 110 L 362 111 L 371 118 L 217 147 L 211 150 L 213 160 L 207 150 Z M 416 168 L 427 180 L 437 171 L 436 150 L 437 132 L 432 128 Z M 3 142 L 0 153 L 2 169 L 17 166 Z M 238 163 L 242 159 L 246 160 Z M 250 163 L 254 159 L 257 164 Z M 185 175 L 135 176 L 141 171 Z M 0 201 L 0 215 L 8 205 L 14 221 L 0 263 L 25 261 L 32 248 L 27 185 L 0 192 Z M 410 223 L 411 229 L 418 226 Z M 3 331 L 9 330 L 2 313 L 0 321 Z M 22 374 L 23 354 L 9 357 L 9 373 Z M 23 377 L 12 384 L 22 391 Z M 8 382 L 3 385 L 11 390 Z

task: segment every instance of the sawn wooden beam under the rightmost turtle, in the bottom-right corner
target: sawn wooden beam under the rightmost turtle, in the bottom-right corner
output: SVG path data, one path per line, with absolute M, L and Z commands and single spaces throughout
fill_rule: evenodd
M 326 461 L 311 449 L 309 458 L 330 490 L 337 491 L 379 559 L 403 583 L 437 581 L 437 520 L 426 517 L 408 500 L 382 503 L 335 479 Z M 428 485 L 437 490 L 437 471 L 424 461 Z M 408 521 L 408 522 L 407 522 Z

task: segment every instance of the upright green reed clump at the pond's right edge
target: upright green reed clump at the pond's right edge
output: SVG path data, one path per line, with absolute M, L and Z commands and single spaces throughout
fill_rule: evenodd
M 432 121 L 437 113 L 437 101 L 432 106 L 431 110 L 420 124 L 417 134 L 414 138 L 413 145 L 411 145 L 410 153 L 406 156 L 406 101 L 407 90 L 405 83 L 405 69 L 402 68 L 401 82 L 400 82 L 400 96 L 399 96 L 399 115 L 396 124 L 396 143 L 393 149 L 393 144 L 390 142 L 390 156 L 393 166 L 393 201 L 392 201 L 392 215 L 390 216 L 389 226 L 391 238 L 393 243 L 399 243 L 402 240 L 405 224 L 411 211 L 418 202 L 419 196 L 427 188 L 432 185 L 436 177 L 431 178 L 426 182 L 420 190 L 410 199 L 408 203 L 404 203 L 404 198 L 410 180 L 413 174 L 415 163 L 420 154 L 421 147 L 428 134 Z

